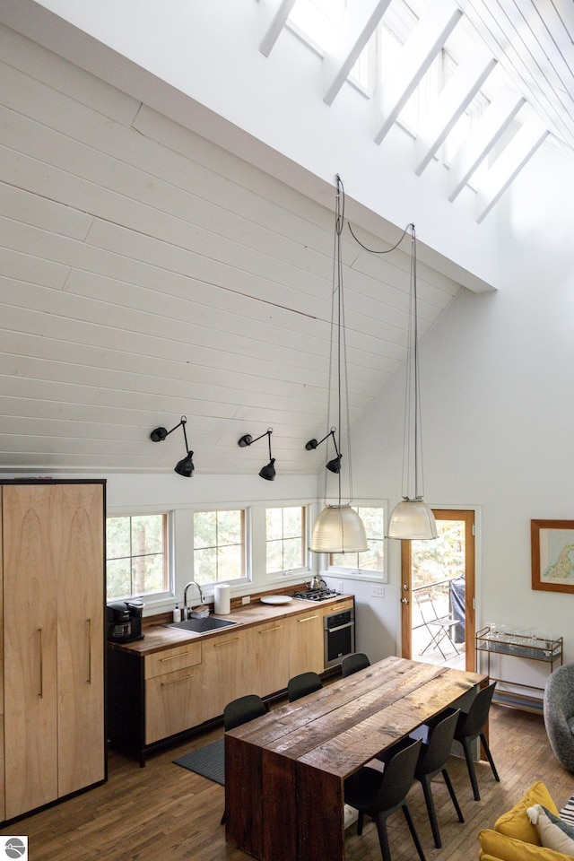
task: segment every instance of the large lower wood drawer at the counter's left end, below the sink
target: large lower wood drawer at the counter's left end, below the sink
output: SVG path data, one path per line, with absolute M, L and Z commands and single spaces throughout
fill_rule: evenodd
M 145 744 L 204 722 L 202 672 L 202 665 L 196 664 L 146 681 Z

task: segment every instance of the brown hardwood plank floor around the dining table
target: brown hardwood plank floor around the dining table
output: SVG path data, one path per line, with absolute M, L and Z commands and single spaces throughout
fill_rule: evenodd
M 220 825 L 223 787 L 172 762 L 221 734 L 222 729 L 214 729 L 156 752 L 144 769 L 110 752 L 107 784 L 13 823 L 1 833 L 27 834 L 32 861 L 248 861 L 247 855 L 225 843 Z M 464 824 L 457 821 L 442 778 L 433 781 L 442 849 L 434 848 L 420 785 L 411 788 L 409 807 L 429 861 L 477 858 L 478 831 L 490 827 L 536 780 L 544 780 L 559 808 L 574 793 L 574 775 L 555 760 L 541 716 L 492 706 L 490 742 L 500 783 L 492 778 L 488 763 L 477 765 L 480 802 L 473 799 L 465 761 L 454 756 L 448 761 Z M 314 804 L 320 828 L 321 799 Z M 401 813 L 389 819 L 388 831 L 393 861 L 416 858 Z M 348 861 L 380 861 L 373 823 L 361 838 L 351 826 L 346 854 Z

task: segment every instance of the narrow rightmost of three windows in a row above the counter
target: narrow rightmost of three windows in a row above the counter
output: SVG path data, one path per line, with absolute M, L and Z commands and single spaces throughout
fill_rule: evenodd
M 305 568 L 306 517 L 303 506 L 265 509 L 267 574 Z

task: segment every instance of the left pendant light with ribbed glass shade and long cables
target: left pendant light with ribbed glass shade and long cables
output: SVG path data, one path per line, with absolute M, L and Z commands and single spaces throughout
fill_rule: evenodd
M 352 496 L 352 470 L 351 470 L 351 429 L 349 421 L 349 392 L 347 387 L 346 370 L 346 342 L 344 332 L 344 290 L 343 290 L 343 261 L 341 257 L 341 233 L 344 226 L 344 186 L 341 178 L 336 176 L 335 196 L 335 250 L 333 260 L 333 291 L 331 295 L 331 351 L 329 357 L 329 390 L 327 404 L 327 422 L 329 422 L 331 408 L 331 382 L 333 370 L 336 367 L 336 410 L 338 414 L 339 442 L 341 441 L 341 429 L 343 427 L 343 395 L 345 407 L 345 422 L 347 431 L 347 458 L 346 470 L 349 478 L 349 492 Z M 336 333 L 336 337 L 335 337 Z M 336 351 L 336 355 L 334 355 Z M 327 427 L 329 425 L 327 424 Z M 343 455 L 337 447 L 335 433 L 332 427 L 326 436 L 317 442 L 310 439 L 306 447 L 317 448 L 322 442 L 331 437 L 335 446 L 335 457 L 328 459 L 328 448 L 326 447 L 326 472 L 325 472 L 325 497 L 327 497 L 327 475 L 329 473 L 337 476 L 338 504 L 327 505 L 321 511 L 311 535 L 309 550 L 314 553 L 352 553 L 368 550 L 367 536 L 361 517 L 351 508 L 350 502 L 342 502 L 342 476 L 344 468 L 342 465 Z

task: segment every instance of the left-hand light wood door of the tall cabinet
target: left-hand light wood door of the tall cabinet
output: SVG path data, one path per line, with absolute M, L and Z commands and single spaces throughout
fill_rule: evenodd
M 4 486 L 6 818 L 57 798 L 51 485 Z

